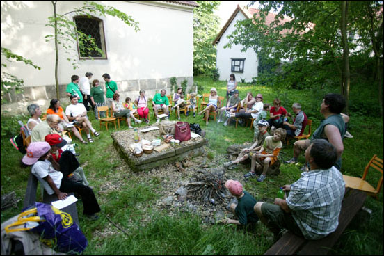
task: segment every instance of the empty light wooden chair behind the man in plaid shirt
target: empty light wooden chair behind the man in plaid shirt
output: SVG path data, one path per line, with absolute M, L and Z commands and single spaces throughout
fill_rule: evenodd
M 367 182 L 367 174 L 370 168 L 375 168 L 381 173 L 381 177 L 378 179 L 378 184 L 376 189 Z M 371 161 L 365 166 L 362 177 L 352 177 L 349 175 L 343 175 L 346 188 L 358 189 L 360 191 L 365 191 L 368 195 L 373 196 L 378 199 L 378 192 L 380 192 L 381 186 L 383 186 L 383 160 L 379 159 L 375 154 L 371 158 Z

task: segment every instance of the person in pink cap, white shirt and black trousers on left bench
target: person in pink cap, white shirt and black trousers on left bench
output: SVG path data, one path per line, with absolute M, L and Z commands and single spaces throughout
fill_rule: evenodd
M 22 163 L 32 166 L 31 173 L 41 182 L 49 195 L 56 194 L 58 200 L 67 198 L 67 193 L 77 193 L 83 202 L 83 214 L 90 220 L 97 220 L 96 215 L 101 209 L 96 200 L 95 193 L 89 186 L 84 186 L 68 179 L 74 168 L 79 167 L 76 157 L 69 151 L 61 154 L 59 164 L 50 154 L 51 146 L 47 142 L 33 142 L 26 149 Z M 60 170 L 60 171 L 59 171 Z

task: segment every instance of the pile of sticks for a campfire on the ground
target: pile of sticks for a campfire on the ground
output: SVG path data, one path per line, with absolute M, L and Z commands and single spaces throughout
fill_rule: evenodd
M 194 181 L 186 185 L 189 198 L 202 201 L 203 205 L 225 202 L 225 181 L 218 175 L 201 170 L 193 177 Z

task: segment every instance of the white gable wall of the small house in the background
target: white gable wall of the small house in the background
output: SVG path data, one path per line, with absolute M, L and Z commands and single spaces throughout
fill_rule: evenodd
M 232 45 L 232 48 L 224 49 L 224 45 L 227 45 L 228 39 L 227 35 L 230 35 L 234 31 L 234 24 L 237 20 L 246 19 L 243 13 L 237 13 L 234 17 L 230 26 L 227 27 L 227 30 L 221 36 L 220 42 L 218 42 L 217 57 L 216 57 L 216 67 L 218 67 L 220 73 L 220 80 L 230 79 L 230 74 L 233 73 L 236 76 L 237 81 L 241 81 L 241 78 L 246 79 L 246 82 L 252 81 L 253 77 L 257 77 L 257 54 L 253 49 L 248 49 L 245 52 L 241 52 L 241 45 Z M 244 61 L 244 70 L 243 73 L 240 72 L 231 72 L 231 58 L 246 58 Z

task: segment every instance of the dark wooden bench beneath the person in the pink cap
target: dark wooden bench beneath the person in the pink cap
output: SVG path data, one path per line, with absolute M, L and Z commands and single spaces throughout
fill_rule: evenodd
M 35 203 L 36 200 L 36 191 L 38 190 L 38 178 L 35 177 L 32 173 L 29 173 L 28 184 L 26 185 L 26 192 L 24 196 L 24 208 L 29 207 Z M 73 193 L 70 193 L 73 194 Z M 42 195 L 42 202 L 50 204 L 52 201 L 57 201 L 57 196 L 55 194 L 48 195 L 47 191 L 44 189 Z M 77 225 L 79 225 L 79 216 L 77 216 L 77 207 L 76 203 L 68 205 L 61 209 L 61 211 L 66 212 L 72 216 L 72 219 Z

